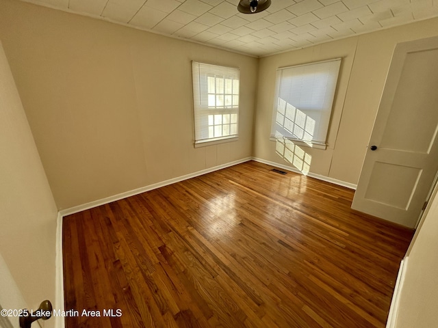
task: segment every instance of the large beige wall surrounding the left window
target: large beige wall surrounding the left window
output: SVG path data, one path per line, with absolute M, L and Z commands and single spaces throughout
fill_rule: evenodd
M 251 156 L 258 59 L 15 0 L 0 40 L 57 207 Z M 191 60 L 241 70 L 240 139 L 194 148 Z

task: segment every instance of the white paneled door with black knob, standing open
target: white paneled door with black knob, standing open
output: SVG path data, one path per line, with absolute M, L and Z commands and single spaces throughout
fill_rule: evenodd
M 352 208 L 414 228 L 438 170 L 438 38 L 396 46 Z

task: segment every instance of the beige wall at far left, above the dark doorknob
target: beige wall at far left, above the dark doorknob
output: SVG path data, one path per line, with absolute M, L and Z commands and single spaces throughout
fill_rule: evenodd
M 36 309 L 55 304 L 57 209 L 1 45 L 0 77 L 0 301 Z

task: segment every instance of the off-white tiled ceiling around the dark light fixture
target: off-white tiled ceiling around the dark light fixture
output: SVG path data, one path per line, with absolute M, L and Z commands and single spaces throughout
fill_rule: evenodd
M 438 0 L 272 0 L 257 14 L 239 0 L 25 0 L 252 55 L 438 17 Z M 244 37 L 243 40 L 240 38 Z M 257 42 L 260 41 L 260 42 Z

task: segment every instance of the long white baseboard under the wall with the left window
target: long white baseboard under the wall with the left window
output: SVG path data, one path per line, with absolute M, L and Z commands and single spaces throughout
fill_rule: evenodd
M 233 165 L 244 163 L 244 162 L 250 161 L 251 159 L 252 159 L 251 157 L 246 157 L 244 159 L 239 159 L 237 161 L 233 161 L 233 162 L 225 163 L 225 164 L 222 164 L 222 165 L 210 167 L 209 169 L 202 169 L 201 171 L 198 171 L 198 172 L 194 172 L 194 173 L 190 173 L 190 174 L 185 174 L 184 176 L 178 176 L 177 178 L 172 178 L 172 179 L 165 180 L 165 181 L 162 181 L 162 182 L 157 182 L 157 183 L 154 183 L 154 184 L 149 184 L 148 186 L 141 187 L 141 188 L 138 188 L 138 189 L 133 189 L 131 191 L 125 191 L 125 193 L 118 193 L 117 195 L 110 196 L 110 197 L 105 197 L 105 198 L 102 198 L 101 200 L 95 200 L 93 202 L 89 202 L 89 203 L 86 203 L 86 204 L 74 206 L 74 207 L 71 207 L 71 208 L 66 208 L 65 210 L 60 210 L 60 215 L 62 215 L 62 217 L 65 217 L 66 215 L 75 214 L 75 213 L 81 212 L 82 210 L 88 210 L 88 209 L 93 208 L 93 207 L 97 207 L 97 206 L 101 206 L 101 205 L 104 205 L 104 204 L 108 204 L 110 202 L 115 202 L 116 200 L 123 200 L 123 198 L 126 198 L 126 197 L 130 197 L 130 196 L 133 196 L 133 195 L 138 195 L 139 193 L 144 193 L 146 191 L 151 191 L 153 189 L 164 187 L 164 186 L 167 186 L 168 184 L 172 184 L 172 183 L 175 183 L 175 182 L 180 182 L 180 181 L 183 181 L 183 180 L 188 180 L 188 179 L 194 178 L 196 176 L 202 176 L 203 174 L 214 172 L 214 171 L 217 171 L 218 169 L 224 169 L 225 167 L 230 167 L 230 166 L 233 166 Z

